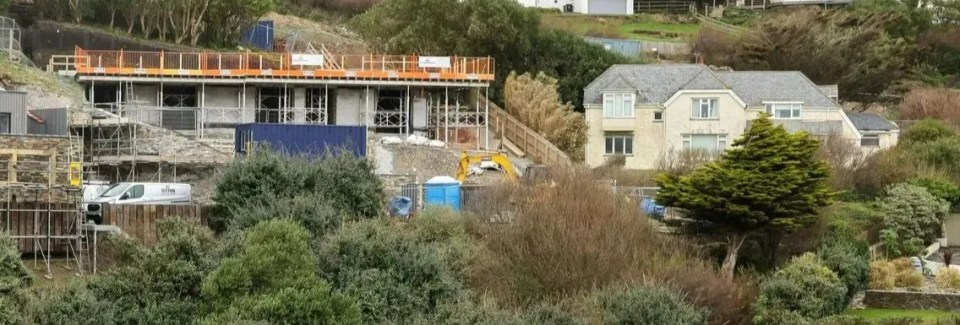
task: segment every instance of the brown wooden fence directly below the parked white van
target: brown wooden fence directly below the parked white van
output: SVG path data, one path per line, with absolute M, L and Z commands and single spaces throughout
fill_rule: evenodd
M 104 210 L 103 224 L 117 226 L 130 237 L 151 247 L 157 241 L 159 220 L 181 217 L 206 225 L 200 208 L 200 205 L 108 205 Z

